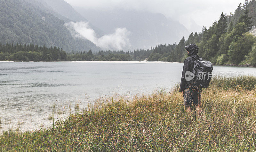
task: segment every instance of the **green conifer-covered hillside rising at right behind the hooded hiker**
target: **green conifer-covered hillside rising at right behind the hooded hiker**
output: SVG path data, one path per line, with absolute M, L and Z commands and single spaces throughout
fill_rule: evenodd
M 256 38 L 249 33 L 256 26 L 256 0 L 239 4 L 234 14 L 221 13 L 217 22 L 202 32 L 183 37 L 179 44 L 162 45 L 150 54 L 148 61 L 183 62 L 187 57 L 184 47 L 195 43 L 198 55 L 213 64 L 251 64 L 256 66 Z M 158 46 L 159 47 L 159 46 Z M 169 54 L 169 55 L 168 55 Z

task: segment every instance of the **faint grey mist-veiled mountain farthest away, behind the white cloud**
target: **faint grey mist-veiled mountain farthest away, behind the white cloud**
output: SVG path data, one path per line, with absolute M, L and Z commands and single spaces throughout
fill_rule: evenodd
M 126 28 L 131 32 L 129 49 L 171 44 L 178 42 L 180 37 L 189 35 L 185 26 L 160 13 L 121 9 L 111 11 L 78 7 L 75 9 L 106 34 L 114 33 L 116 28 Z

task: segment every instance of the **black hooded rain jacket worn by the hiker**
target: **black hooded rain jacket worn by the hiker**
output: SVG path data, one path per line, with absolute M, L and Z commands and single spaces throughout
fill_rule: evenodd
M 180 92 L 183 92 L 187 88 L 187 86 L 193 82 L 193 80 L 186 81 L 185 73 L 187 71 L 190 71 L 190 72 L 193 71 L 195 60 L 202 60 L 201 57 L 196 55 L 198 53 L 198 47 L 196 46 L 196 44 L 190 44 L 190 45 L 186 46 L 185 49 L 188 51 L 189 57 L 186 58 L 184 61 L 182 75 L 181 75 L 181 81 L 180 81 Z

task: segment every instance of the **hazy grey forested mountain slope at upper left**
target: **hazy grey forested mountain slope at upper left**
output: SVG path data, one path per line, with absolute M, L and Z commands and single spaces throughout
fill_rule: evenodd
M 0 42 L 2 44 L 32 42 L 39 46 L 61 47 L 67 52 L 99 50 L 89 40 L 74 38 L 64 26 L 64 20 L 60 19 L 61 15 L 54 15 L 51 9 L 39 2 L 0 0 L 0 12 Z

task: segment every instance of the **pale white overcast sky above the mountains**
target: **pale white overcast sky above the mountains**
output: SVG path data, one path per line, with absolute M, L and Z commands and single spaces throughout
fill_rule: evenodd
M 244 0 L 65 0 L 73 6 L 93 9 L 136 9 L 162 13 L 190 29 L 192 20 L 209 27 L 221 12 L 234 12 Z M 191 20 L 192 19 L 192 20 Z M 191 29 L 195 30 L 195 29 Z M 201 30 L 201 29 L 200 29 Z M 193 31 L 191 31 L 193 32 Z

